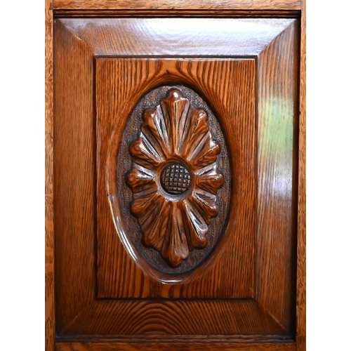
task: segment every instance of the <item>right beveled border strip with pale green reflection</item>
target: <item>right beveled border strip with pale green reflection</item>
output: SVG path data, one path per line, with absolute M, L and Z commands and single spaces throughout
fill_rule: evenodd
M 298 22 L 258 58 L 258 301 L 294 330 Z M 274 297 L 273 297 L 274 296 Z

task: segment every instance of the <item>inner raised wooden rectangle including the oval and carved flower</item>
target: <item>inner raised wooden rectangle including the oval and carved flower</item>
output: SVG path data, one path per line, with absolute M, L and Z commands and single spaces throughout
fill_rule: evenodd
M 253 297 L 255 61 L 96 66 L 98 296 Z

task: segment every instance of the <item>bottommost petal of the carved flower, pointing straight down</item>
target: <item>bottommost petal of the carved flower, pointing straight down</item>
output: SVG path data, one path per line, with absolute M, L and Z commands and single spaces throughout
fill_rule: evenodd
M 161 256 L 177 267 L 182 260 L 189 256 L 187 237 L 183 222 L 183 212 L 176 203 L 171 203 L 172 212 L 166 237 L 161 249 Z

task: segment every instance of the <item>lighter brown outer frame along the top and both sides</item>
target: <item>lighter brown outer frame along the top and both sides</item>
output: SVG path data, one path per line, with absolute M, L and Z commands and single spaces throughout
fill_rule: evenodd
M 199 1 L 182 2 L 145 0 L 138 2 L 138 8 L 128 6 L 128 1 L 117 0 L 46 0 L 45 3 L 45 335 L 46 351 L 55 350 L 55 291 L 54 291 L 54 247 L 53 247 L 53 9 L 55 10 L 98 10 L 128 11 L 143 10 L 145 12 L 159 9 L 164 15 L 173 15 L 177 11 L 192 11 L 199 6 Z M 186 4 L 186 5 L 185 5 Z M 296 299 L 296 350 L 306 348 L 306 10 L 305 0 L 230 0 L 225 2 L 208 0 L 201 8 L 211 15 L 225 13 L 226 15 L 239 15 L 240 11 L 261 11 L 266 15 L 270 11 L 301 11 L 300 31 L 300 118 L 299 118 L 299 147 L 298 147 L 298 270 L 297 270 L 297 299 Z M 224 12 L 225 11 L 225 12 Z M 243 12 L 241 12 L 243 14 Z M 245 350 L 237 345 L 237 350 Z M 272 350 L 275 350 L 272 348 Z

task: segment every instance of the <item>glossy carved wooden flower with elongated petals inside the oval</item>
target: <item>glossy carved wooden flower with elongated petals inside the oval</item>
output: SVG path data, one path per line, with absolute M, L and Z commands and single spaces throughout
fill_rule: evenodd
M 204 248 L 211 218 L 218 214 L 220 145 L 213 140 L 204 110 L 177 89 L 154 110 L 143 112 L 138 139 L 129 152 L 133 168 L 126 183 L 133 190 L 131 212 L 143 243 L 177 267 L 192 249 Z

